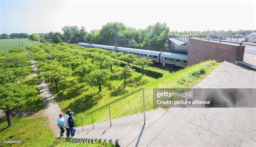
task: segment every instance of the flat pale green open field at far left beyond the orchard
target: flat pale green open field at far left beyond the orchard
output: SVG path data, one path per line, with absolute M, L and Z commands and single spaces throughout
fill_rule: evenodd
M 0 39 L 0 51 L 8 52 L 11 47 L 28 47 L 32 45 L 41 45 L 39 41 L 29 40 L 27 38 L 23 39 Z

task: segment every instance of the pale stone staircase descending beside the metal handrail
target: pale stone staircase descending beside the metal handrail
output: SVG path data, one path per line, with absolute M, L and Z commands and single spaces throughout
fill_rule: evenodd
M 71 140 L 74 142 L 112 142 L 117 146 L 129 146 L 131 144 L 133 144 L 131 146 L 134 146 L 139 143 L 135 141 L 140 140 L 140 136 L 144 131 L 151 129 L 153 124 L 166 112 L 162 108 L 151 109 L 146 112 L 146 124 L 144 124 L 143 113 L 138 113 L 113 119 L 112 127 L 110 127 L 109 121 L 95 123 L 95 129 L 92 128 L 92 125 L 84 126 L 84 130 L 82 127 L 78 127 L 76 128 L 76 135 Z M 148 142 L 145 142 L 145 144 L 149 144 L 152 141 L 151 139 L 147 140 Z

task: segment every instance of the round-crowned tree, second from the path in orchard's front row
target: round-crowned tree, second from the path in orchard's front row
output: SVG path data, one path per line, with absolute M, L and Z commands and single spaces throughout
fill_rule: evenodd
M 91 86 L 98 86 L 99 92 L 102 91 L 102 86 L 107 85 L 111 76 L 111 72 L 105 69 L 96 69 L 91 71 L 85 78 Z

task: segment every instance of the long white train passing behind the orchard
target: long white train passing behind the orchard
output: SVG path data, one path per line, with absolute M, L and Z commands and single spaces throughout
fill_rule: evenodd
M 117 52 L 123 52 L 125 54 L 134 54 L 137 57 L 146 57 L 157 63 L 165 63 L 165 64 L 173 64 L 177 67 L 186 67 L 187 66 L 187 55 L 183 54 L 174 54 L 174 53 L 166 53 L 166 52 L 157 52 L 152 50 L 144 50 L 144 49 L 134 49 L 134 48 L 126 48 L 126 47 L 114 47 L 114 46 L 105 46 L 105 45 L 97 45 L 91 43 L 78 43 L 79 46 L 86 47 L 97 47 L 103 48 L 107 50 L 117 50 Z

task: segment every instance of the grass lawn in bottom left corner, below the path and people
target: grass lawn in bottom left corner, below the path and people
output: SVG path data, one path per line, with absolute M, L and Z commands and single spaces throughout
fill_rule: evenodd
M 14 117 L 7 127 L 5 118 L 0 118 L 0 146 L 114 146 L 108 143 L 72 143 L 56 139 L 48 117 Z M 4 144 L 2 141 L 21 141 Z

